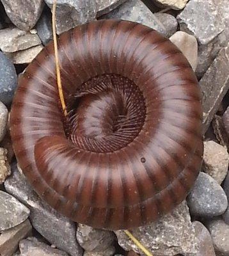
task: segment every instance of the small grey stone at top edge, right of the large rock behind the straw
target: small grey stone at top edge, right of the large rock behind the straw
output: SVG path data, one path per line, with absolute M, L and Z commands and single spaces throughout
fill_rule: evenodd
M 127 0 L 95 0 L 97 17 L 100 17 L 106 13 L 111 12 L 113 9 L 117 8 L 120 4 Z

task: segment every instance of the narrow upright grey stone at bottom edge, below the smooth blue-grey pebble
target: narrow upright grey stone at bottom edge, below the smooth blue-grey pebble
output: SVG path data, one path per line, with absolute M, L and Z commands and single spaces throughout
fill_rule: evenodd
M 196 256 L 216 256 L 209 230 L 200 221 L 194 221 L 193 227 L 199 243 Z

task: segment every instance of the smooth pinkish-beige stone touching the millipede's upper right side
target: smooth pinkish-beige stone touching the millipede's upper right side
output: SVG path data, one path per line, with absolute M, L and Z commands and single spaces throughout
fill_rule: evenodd
M 195 71 L 198 58 L 198 44 L 196 38 L 186 32 L 177 31 L 170 37 L 170 41 L 183 52 L 184 56 L 186 56 L 191 67 Z

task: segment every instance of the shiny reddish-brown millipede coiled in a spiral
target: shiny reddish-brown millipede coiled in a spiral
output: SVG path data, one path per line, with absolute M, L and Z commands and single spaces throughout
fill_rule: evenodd
M 35 191 L 70 219 L 132 228 L 170 212 L 201 166 L 198 82 L 175 45 L 146 26 L 100 20 L 60 36 L 20 77 L 10 127 Z

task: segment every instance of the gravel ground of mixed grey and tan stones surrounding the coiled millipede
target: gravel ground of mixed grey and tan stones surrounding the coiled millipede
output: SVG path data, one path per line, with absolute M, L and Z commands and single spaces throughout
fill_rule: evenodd
M 76 225 L 51 209 L 13 157 L 8 116 L 17 76 L 52 40 L 52 3 L 0 1 L 0 255 L 136 256 L 141 252 L 122 230 Z M 191 193 L 173 212 L 132 233 L 155 256 L 229 255 L 228 0 L 58 0 L 58 34 L 95 19 L 133 20 L 170 38 L 203 94 L 203 166 Z

